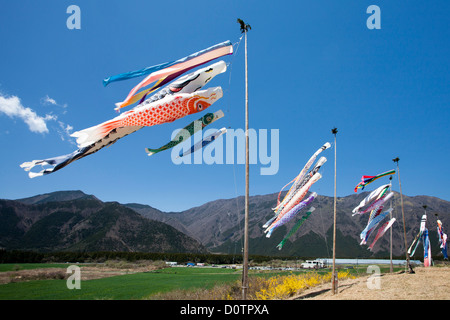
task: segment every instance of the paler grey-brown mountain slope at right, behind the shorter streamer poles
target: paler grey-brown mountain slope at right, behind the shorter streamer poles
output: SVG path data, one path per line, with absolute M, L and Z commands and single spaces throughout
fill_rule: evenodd
M 352 209 L 367 195 L 367 192 L 352 194 L 337 199 L 337 249 L 338 257 L 386 257 L 389 255 L 389 232 L 374 247 L 373 253 L 367 245 L 360 245 L 359 234 L 367 224 L 368 216 L 353 216 Z M 333 237 L 333 201 L 332 197 L 318 196 L 312 204 L 316 211 L 305 221 L 279 251 L 276 246 L 290 230 L 295 221 L 274 231 L 271 238 L 266 238 L 261 226 L 272 216 L 271 208 L 276 205 L 278 194 L 250 197 L 249 252 L 250 254 L 330 257 L 332 255 Z M 393 254 L 404 255 L 403 222 L 400 195 L 394 194 L 392 206 L 393 217 Z M 431 247 L 434 255 L 439 255 L 436 233 L 436 214 L 444 223 L 450 225 L 450 202 L 429 196 L 408 197 L 403 195 L 406 234 L 408 245 L 419 230 L 423 205 L 427 205 Z M 243 244 L 244 197 L 220 199 L 205 203 L 183 212 L 162 212 L 150 206 L 126 204 L 129 208 L 150 219 L 172 225 L 203 243 L 212 252 L 240 254 Z M 387 220 L 387 219 L 386 219 Z M 448 228 L 447 228 L 448 230 Z M 375 236 L 374 232 L 368 243 Z M 422 256 L 421 246 L 415 256 Z

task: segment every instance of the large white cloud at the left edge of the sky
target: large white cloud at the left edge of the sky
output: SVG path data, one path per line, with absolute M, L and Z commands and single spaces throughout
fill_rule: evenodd
M 10 118 L 22 119 L 28 125 L 30 131 L 38 133 L 48 133 L 46 122 L 57 118 L 53 115 L 38 116 L 30 108 L 24 107 L 16 96 L 4 97 L 0 95 L 0 112 L 3 112 Z

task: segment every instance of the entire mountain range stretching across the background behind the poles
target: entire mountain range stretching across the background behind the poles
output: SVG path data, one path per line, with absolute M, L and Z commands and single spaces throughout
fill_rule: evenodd
M 368 215 L 352 216 L 352 209 L 367 192 L 337 198 L 336 256 L 388 257 L 389 231 L 373 252 L 360 245 L 359 234 Z M 318 196 L 316 210 L 276 248 L 293 226 L 292 221 L 266 238 L 262 225 L 273 216 L 278 194 L 249 199 L 249 253 L 301 257 L 331 257 L 333 247 L 333 197 Z M 450 202 L 430 196 L 403 195 L 407 244 L 419 231 L 424 207 L 433 256 L 438 247 L 436 220 L 450 224 Z M 404 256 L 405 242 L 400 195 L 394 193 L 392 251 Z M 301 215 L 301 214 L 300 214 Z M 219 199 L 182 212 L 163 212 L 149 205 L 102 202 L 82 191 L 58 191 L 17 200 L 0 200 L 0 247 L 39 251 L 141 251 L 241 254 L 244 229 L 244 197 Z M 295 220 L 295 219 L 294 219 Z M 387 218 L 386 218 L 387 220 Z M 376 230 L 369 237 L 373 241 Z M 415 257 L 422 256 L 419 246 Z

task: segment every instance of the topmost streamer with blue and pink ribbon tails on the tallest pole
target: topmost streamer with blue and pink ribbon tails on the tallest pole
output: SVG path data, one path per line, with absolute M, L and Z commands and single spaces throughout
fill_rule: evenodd
M 116 110 L 118 110 L 141 100 L 144 95 L 147 95 L 150 92 L 169 83 L 186 71 L 232 53 L 233 45 L 230 41 L 225 41 L 176 61 L 166 62 L 156 66 L 147 67 L 137 71 L 126 72 L 106 78 L 103 80 L 103 84 L 106 86 L 114 81 L 126 80 L 147 75 L 144 80 L 142 80 L 138 85 L 131 89 L 124 101 L 116 103 Z M 138 93 L 140 89 L 150 85 L 155 81 L 157 81 L 156 84 L 154 84 L 151 88 L 145 90 L 144 93 Z

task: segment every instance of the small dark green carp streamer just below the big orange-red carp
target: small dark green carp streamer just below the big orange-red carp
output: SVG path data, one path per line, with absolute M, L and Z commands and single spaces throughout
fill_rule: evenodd
M 214 113 L 207 113 L 200 119 L 191 122 L 186 127 L 181 129 L 169 143 L 163 145 L 162 147 L 159 147 L 158 149 L 145 148 L 145 152 L 147 152 L 148 155 L 151 156 L 155 153 L 173 148 L 177 144 L 180 144 L 181 142 L 186 141 L 187 138 L 192 136 L 197 131 L 203 130 L 204 128 L 206 128 L 207 125 L 210 125 L 211 123 L 222 118 L 223 116 L 224 116 L 224 113 L 222 110 L 219 110 Z

